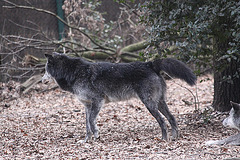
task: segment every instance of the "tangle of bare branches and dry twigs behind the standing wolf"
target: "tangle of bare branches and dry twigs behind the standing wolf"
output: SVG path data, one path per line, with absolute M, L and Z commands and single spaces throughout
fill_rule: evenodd
M 101 25 L 98 25 L 97 20 L 95 22 L 93 21 L 94 27 L 92 28 L 92 30 L 94 32 L 92 32 L 92 30 L 88 28 L 89 27 L 88 25 L 92 25 L 91 23 L 92 21 L 85 20 L 84 25 L 82 23 L 80 25 L 80 21 L 74 21 L 74 18 L 78 17 L 79 14 L 76 11 L 72 11 L 69 14 L 66 14 L 68 16 L 66 17 L 65 21 L 57 14 L 45 9 L 33 7 L 31 6 L 30 3 L 28 3 L 29 6 L 25 6 L 16 4 L 14 2 L 11 2 L 10 0 L 3 0 L 3 2 L 6 3 L 6 5 L 3 7 L 7 9 L 33 10 L 36 12 L 41 12 L 54 16 L 59 21 L 61 21 L 68 29 L 68 35 L 65 38 L 63 38 L 62 40 L 56 40 L 55 38 L 52 38 L 46 32 L 44 32 L 41 26 L 38 26 L 36 23 L 32 21 L 27 21 L 32 26 L 29 27 L 10 20 L 10 22 L 13 25 L 16 25 L 19 28 L 23 28 L 25 30 L 33 31 L 35 33 L 30 35 L 30 37 L 24 37 L 21 35 L 4 35 L 4 32 L 0 34 L 1 40 L 0 48 L 2 48 L 1 51 L 3 51 L 0 52 L 0 56 L 2 57 L 1 61 L 6 61 L 12 58 L 6 64 L 0 63 L 0 72 L 2 72 L 7 77 L 20 79 L 21 77 L 25 78 L 29 75 L 34 74 L 35 72 L 44 70 L 43 66 L 44 61 L 42 59 L 35 60 L 35 58 L 32 55 L 24 53 L 24 50 L 28 48 L 35 48 L 44 51 L 55 50 L 60 52 L 63 52 L 63 50 L 67 50 L 67 52 L 75 56 L 84 56 L 86 58 L 100 57 L 99 59 L 113 59 L 115 61 L 122 59 L 126 62 L 137 60 L 140 58 L 138 54 L 134 53 L 138 49 L 135 49 L 134 52 L 132 52 L 131 50 L 131 47 L 133 47 L 134 45 L 123 47 L 122 49 L 120 49 L 119 46 L 114 45 L 113 47 L 113 45 L 109 45 L 110 43 L 108 42 L 111 41 L 111 44 L 114 43 L 114 41 L 111 40 L 111 38 L 114 37 L 112 35 L 115 35 L 117 33 L 117 30 L 119 29 L 121 33 L 124 32 L 124 30 L 121 30 L 122 29 L 121 26 L 124 25 L 130 26 L 129 29 L 130 33 L 125 33 L 124 35 L 128 36 L 125 40 L 128 40 L 129 38 L 134 39 L 136 42 L 141 40 L 138 37 L 135 37 L 134 35 L 135 33 L 138 32 L 138 30 L 135 29 L 137 25 L 135 21 L 132 21 L 131 18 L 132 14 L 130 14 L 130 12 L 124 8 L 122 8 L 121 17 L 119 17 L 119 20 L 115 23 L 115 26 L 113 26 L 112 28 L 112 30 L 114 31 L 112 33 L 107 33 L 110 36 L 106 35 L 101 36 L 101 34 L 103 34 L 101 33 L 103 32 L 103 30 L 100 30 L 99 34 L 95 31 L 97 27 L 99 26 L 102 27 L 104 24 L 104 20 L 101 18 L 100 18 L 102 20 L 100 22 Z M 84 15 L 97 14 L 96 11 L 92 11 L 89 8 L 84 8 L 81 11 L 81 13 L 82 12 L 86 12 Z M 94 18 L 92 19 L 94 20 Z M 85 41 L 87 41 L 87 43 L 85 43 Z M 139 50 L 143 48 L 144 47 L 140 47 Z M 25 57 L 23 58 L 22 55 L 20 55 L 20 53 L 26 54 Z M 21 64 L 19 64 L 19 61 L 21 61 Z M 17 76 L 11 76 L 12 70 L 20 71 L 21 74 Z

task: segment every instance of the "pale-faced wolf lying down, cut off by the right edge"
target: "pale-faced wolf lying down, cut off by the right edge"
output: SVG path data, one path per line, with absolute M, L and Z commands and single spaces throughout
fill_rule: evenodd
M 229 116 L 223 120 L 225 127 L 236 128 L 240 131 L 240 104 L 230 102 L 232 109 L 229 112 Z M 210 140 L 206 142 L 206 145 L 240 145 L 240 133 L 224 138 L 222 140 Z

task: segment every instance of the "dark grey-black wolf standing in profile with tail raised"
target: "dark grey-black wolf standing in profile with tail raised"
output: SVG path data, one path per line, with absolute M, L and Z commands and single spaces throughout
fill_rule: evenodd
M 177 139 L 178 127 L 165 102 L 166 83 L 160 71 L 182 79 L 189 85 L 196 76 L 183 62 L 156 59 L 149 62 L 110 63 L 89 62 L 61 53 L 45 54 L 47 63 L 44 79 L 53 78 L 61 89 L 75 94 L 85 106 L 87 142 L 92 135 L 99 138 L 96 118 L 104 103 L 139 98 L 161 127 L 162 139 L 168 140 L 167 127 L 161 113 L 172 128 L 172 138 Z

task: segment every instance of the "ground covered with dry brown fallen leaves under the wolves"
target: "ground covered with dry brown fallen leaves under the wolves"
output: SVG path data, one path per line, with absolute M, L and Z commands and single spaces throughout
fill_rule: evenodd
M 177 141 L 163 141 L 156 120 L 139 100 L 132 99 L 105 104 L 97 122 L 100 140 L 82 144 L 84 107 L 68 92 L 49 90 L 54 85 L 40 83 L 19 95 L 18 83 L 0 83 L 0 159 L 240 158 L 239 146 L 204 144 L 237 133 L 222 126 L 227 114 L 211 108 L 211 75 L 199 77 L 195 87 L 167 81 L 167 104 L 179 125 Z

